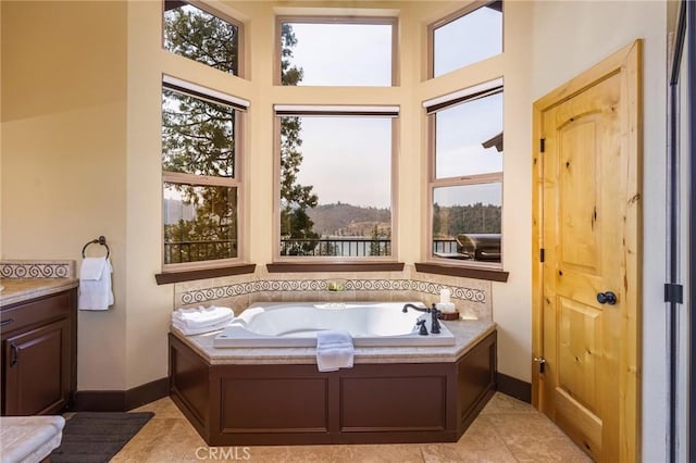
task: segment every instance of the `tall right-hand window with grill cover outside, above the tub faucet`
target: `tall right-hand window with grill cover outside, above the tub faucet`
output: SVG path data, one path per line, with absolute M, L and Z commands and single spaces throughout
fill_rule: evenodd
M 428 255 L 499 266 L 502 79 L 426 101 L 424 107 L 432 166 Z

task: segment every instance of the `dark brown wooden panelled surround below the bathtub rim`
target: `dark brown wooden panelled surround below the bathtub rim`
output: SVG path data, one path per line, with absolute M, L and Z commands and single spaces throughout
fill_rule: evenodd
M 455 442 L 496 390 L 496 331 L 456 362 L 211 364 L 170 334 L 170 393 L 210 446 Z

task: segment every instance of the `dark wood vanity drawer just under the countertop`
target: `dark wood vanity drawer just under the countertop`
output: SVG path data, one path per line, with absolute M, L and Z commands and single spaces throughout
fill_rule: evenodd
M 59 292 L 0 311 L 2 334 L 69 316 L 69 292 Z

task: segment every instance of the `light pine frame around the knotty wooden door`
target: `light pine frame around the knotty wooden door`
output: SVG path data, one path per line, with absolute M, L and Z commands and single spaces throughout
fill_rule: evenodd
M 643 160 L 643 117 L 642 117 L 642 48 L 643 41 L 636 40 L 612 53 L 587 71 L 542 97 L 533 104 L 532 138 L 532 404 L 542 410 L 540 400 L 543 376 L 535 358 L 543 358 L 543 299 L 544 299 L 544 263 L 540 250 L 544 248 L 543 208 L 544 208 L 544 160 L 540 140 L 544 136 L 542 114 L 544 111 L 560 104 L 589 86 L 608 76 L 621 74 L 621 98 L 626 98 L 629 111 L 629 130 L 625 134 L 625 146 L 629 149 L 630 166 L 626 185 L 629 193 L 625 210 L 626 249 L 624 254 L 626 266 L 625 309 L 629 314 L 624 318 L 622 333 L 629 335 L 626 347 L 621 352 L 621 371 L 619 373 L 620 429 L 619 439 L 621 461 L 639 461 L 641 459 L 641 380 L 642 380 L 642 255 L 643 255 L 643 216 L 642 216 L 642 160 Z M 626 404 L 632 406 L 626 406 Z

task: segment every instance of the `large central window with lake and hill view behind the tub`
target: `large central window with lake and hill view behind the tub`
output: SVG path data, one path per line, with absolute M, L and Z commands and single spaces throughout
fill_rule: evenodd
M 393 258 L 396 107 L 276 105 L 284 259 Z

